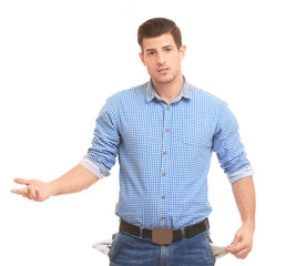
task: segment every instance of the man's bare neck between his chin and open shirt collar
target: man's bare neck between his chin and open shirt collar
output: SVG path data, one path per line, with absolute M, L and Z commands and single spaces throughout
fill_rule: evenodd
M 180 92 L 182 91 L 183 84 L 184 84 L 184 78 L 182 74 L 178 74 L 174 80 L 165 83 L 161 83 L 157 81 L 154 81 L 152 79 L 152 82 L 154 84 L 154 88 L 157 92 L 157 94 L 168 104 L 173 102 L 174 99 L 177 98 Z

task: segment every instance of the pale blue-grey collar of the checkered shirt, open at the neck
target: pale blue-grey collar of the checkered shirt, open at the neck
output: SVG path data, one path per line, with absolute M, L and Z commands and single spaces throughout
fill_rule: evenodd
M 180 92 L 180 94 L 177 95 L 176 99 L 173 100 L 173 102 L 178 102 L 182 100 L 182 98 L 185 99 L 191 99 L 192 98 L 192 85 L 186 81 L 186 79 L 184 78 L 184 85 Z M 150 79 L 150 81 L 146 83 L 146 102 L 151 102 L 153 99 L 157 99 L 157 100 L 162 100 L 164 101 L 156 92 L 152 79 Z

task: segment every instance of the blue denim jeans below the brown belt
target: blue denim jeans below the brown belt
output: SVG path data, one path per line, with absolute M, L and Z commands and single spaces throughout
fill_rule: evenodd
M 213 266 L 215 257 L 211 248 L 210 233 L 156 245 L 151 239 L 119 232 L 113 235 L 110 249 L 111 266 Z

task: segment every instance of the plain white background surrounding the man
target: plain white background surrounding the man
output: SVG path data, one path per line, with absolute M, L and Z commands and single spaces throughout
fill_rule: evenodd
M 106 98 L 149 79 L 137 27 L 176 21 L 187 47 L 188 82 L 225 100 L 255 168 L 257 228 L 246 260 L 282 265 L 285 248 L 286 8 L 284 1 L 0 2 L 0 265 L 100 265 L 94 242 L 118 229 L 119 166 L 80 194 L 30 202 L 14 177 L 51 181 L 86 153 Z M 212 238 L 227 245 L 239 227 L 231 185 L 213 157 Z

